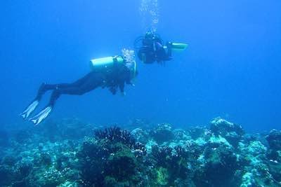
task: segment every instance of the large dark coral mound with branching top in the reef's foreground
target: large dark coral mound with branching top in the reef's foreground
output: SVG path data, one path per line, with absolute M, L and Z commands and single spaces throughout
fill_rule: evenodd
M 145 155 L 143 144 L 119 127 L 97 130 L 79 151 L 81 179 L 85 186 L 137 186 Z

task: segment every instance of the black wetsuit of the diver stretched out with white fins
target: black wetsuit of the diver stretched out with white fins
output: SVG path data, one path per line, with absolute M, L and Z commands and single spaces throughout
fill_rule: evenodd
M 83 95 L 98 87 L 109 88 L 113 95 L 118 88 L 124 92 L 124 85 L 131 84 L 130 71 L 124 64 L 116 64 L 112 69 L 93 69 L 89 74 L 74 83 L 46 84 L 43 83 L 38 90 L 35 100 L 40 100 L 48 90 L 53 90 L 48 106 L 55 104 L 60 95 Z

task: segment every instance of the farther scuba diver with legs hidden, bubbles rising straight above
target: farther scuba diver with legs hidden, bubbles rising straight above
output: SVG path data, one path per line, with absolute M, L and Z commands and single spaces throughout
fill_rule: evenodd
M 138 37 L 134 42 L 134 47 L 138 50 L 138 58 L 145 64 L 157 62 L 163 64 L 171 60 L 171 52 L 174 50 L 185 50 L 185 43 L 166 42 L 154 32 L 146 32 L 145 36 Z

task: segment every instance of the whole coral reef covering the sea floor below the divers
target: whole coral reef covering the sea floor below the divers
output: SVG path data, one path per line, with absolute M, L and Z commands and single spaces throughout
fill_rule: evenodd
M 0 186 L 281 186 L 281 131 L 246 134 L 222 118 L 173 128 L 76 118 L 0 130 Z

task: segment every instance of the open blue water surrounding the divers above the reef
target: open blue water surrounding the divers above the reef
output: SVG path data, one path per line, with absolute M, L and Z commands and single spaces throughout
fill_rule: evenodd
M 280 129 L 281 1 L 158 1 L 157 33 L 189 44 L 165 66 L 138 62 L 126 97 L 108 90 L 63 95 L 49 118 L 174 126 L 221 116 L 249 131 Z M 121 54 L 144 34 L 141 1 L 2 1 L 1 124 L 20 113 L 42 82 L 72 82 L 94 57 Z M 48 95 L 44 98 L 47 102 Z M 45 104 L 44 103 L 44 104 Z M 41 106 L 43 107 L 44 104 Z M 27 122 L 25 122 L 27 123 Z M 30 124 L 32 125 L 32 124 Z

